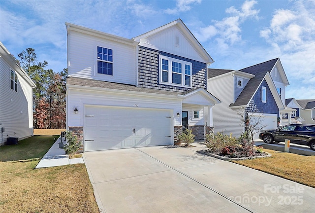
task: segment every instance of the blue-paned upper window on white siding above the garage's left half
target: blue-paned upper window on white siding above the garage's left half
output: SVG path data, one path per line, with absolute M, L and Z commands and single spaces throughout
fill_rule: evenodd
M 113 50 L 97 47 L 97 73 L 113 75 Z

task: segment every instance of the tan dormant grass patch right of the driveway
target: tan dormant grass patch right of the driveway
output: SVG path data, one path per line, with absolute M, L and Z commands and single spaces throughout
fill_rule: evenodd
M 232 162 L 315 188 L 315 156 L 271 149 L 263 151 L 272 154 L 272 157 Z

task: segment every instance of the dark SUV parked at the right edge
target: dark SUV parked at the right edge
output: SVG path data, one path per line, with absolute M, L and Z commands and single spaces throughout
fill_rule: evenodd
M 262 130 L 259 139 L 265 143 L 284 142 L 308 145 L 315 151 L 315 125 L 314 124 L 289 124 L 276 130 Z

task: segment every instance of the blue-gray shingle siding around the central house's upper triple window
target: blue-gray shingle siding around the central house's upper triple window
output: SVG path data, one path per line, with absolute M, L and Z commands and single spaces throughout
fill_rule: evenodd
M 147 47 L 139 46 L 138 50 L 138 85 L 152 89 L 169 90 L 183 92 L 189 88 L 179 86 L 164 85 L 159 83 L 159 55 L 188 61 L 192 63 L 192 89 L 207 89 L 207 64 L 191 59 L 179 57 L 169 53 L 153 50 Z

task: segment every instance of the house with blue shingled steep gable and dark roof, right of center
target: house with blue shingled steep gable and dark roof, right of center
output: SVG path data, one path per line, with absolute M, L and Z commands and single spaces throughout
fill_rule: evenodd
M 284 106 L 287 85 L 279 58 L 242 70 L 208 69 L 207 90 L 222 102 L 212 108 L 214 132 L 239 137 L 243 113 L 260 119 L 264 129 L 277 128 L 280 114 L 294 110 Z

